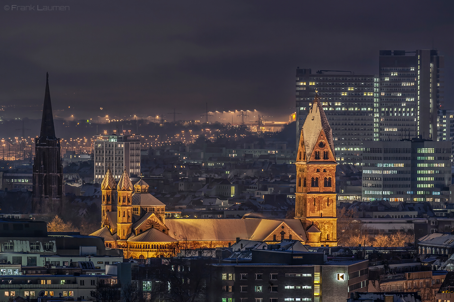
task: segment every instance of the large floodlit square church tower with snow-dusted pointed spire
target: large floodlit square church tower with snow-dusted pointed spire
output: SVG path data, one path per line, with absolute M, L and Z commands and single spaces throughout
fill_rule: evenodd
M 336 246 L 336 157 L 331 127 L 315 96 L 296 154 L 295 218 L 311 246 Z

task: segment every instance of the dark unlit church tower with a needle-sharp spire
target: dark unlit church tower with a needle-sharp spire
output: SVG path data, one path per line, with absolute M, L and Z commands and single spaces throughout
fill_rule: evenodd
M 62 208 L 63 172 L 60 139 L 55 136 L 54 117 L 50 104 L 49 74 L 46 74 L 41 133 L 35 139 L 33 162 L 33 213 L 59 214 Z

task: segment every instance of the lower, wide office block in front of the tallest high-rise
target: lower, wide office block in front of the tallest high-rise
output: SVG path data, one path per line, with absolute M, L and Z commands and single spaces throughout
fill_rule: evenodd
M 451 142 L 370 142 L 363 151 L 363 201 L 449 201 Z

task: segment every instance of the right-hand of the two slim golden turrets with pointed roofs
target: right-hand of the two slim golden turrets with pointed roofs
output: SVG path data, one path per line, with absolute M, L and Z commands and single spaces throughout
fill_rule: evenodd
M 132 233 L 133 225 L 133 184 L 129 179 L 126 168 L 117 185 L 117 235 L 119 240 L 126 240 Z

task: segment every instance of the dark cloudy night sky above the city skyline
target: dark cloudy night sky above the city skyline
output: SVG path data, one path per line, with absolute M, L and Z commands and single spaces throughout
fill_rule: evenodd
M 178 118 L 194 119 L 208 102 L 210 111 L 256 109 L 285 119 L 295 111 L 298 66 L 375 74 L 380 49 L 434 45 L 445 56 L 445 109 L 452 109 L 453 16 L 452 0 L 4 0 L 0 105 L 19 106 L 7 118 L 39 117 L 49 72 L 61 117 L 176 108 Z

